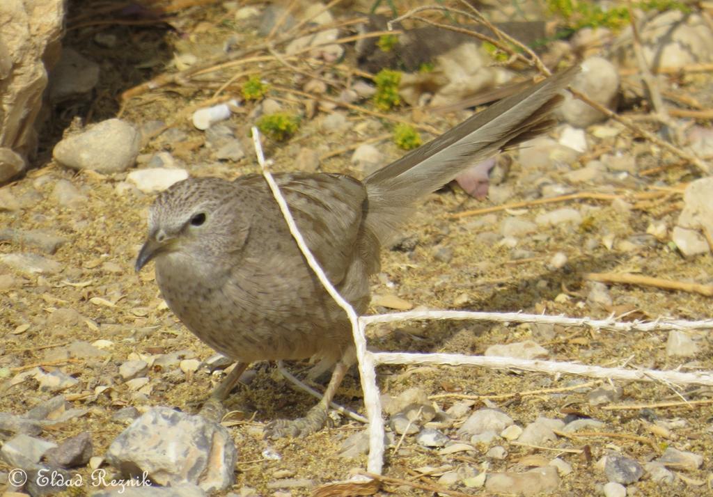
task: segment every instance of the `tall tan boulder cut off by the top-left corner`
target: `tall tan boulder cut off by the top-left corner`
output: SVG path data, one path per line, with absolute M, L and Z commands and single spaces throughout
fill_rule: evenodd
M 59 58 L 64 0 L 0 1 L 0 183 L 37 149 L 47 71 Z

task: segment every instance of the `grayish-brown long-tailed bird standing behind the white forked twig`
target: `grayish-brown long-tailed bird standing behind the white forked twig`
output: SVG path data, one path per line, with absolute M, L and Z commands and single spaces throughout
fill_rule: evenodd
M 560 71 L 494 103 L 364 180 L 275 175 L 309 250 L 357 313 L 369 307 L 369 276 L 379 271 L 381 247 L 416 202 L 471 165 L 552 128 L 553 111 L 578 70 Z M 317 357 L 334 364 L 324 396 L 302 418 L 267 424 L 267 436 L 322 429 L 356 360 L 351 326 L 307 265 L 262 175 L 188 178 L 161 192 L 150 207 L 135 270 L 150 260 L 178 319 L 236 362 L 204 409 L 213 406 L 215 414 L 252 362 Z

